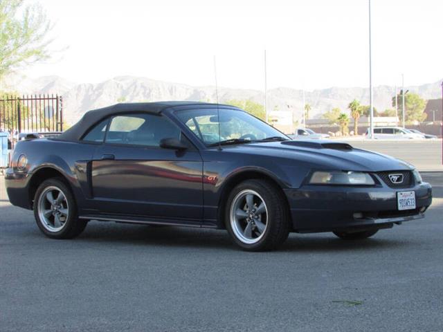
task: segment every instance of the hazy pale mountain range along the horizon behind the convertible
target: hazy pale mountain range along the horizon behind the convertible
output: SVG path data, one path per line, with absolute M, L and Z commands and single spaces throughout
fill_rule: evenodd
M 411 92 L 422 98 L 441 98 L 441 82 L 407 86 Z M 120 76 L 98 84 L 76 83 L 58 76 L 45 76 L 37 79 L 24 79 L 15 86 L 20 93 L 54 93 L 62 95 L 64 117 L 73 124 L 84 112 L 105 107 L 117 102 L 152 102 L 162 100 L 195 100 L 215 102 L 217 93 L 214 86 L 190 86 L 172 82 L 152 80 L 146 77 Z M 399 89 L 398 89 L 399 91 Z M 264 92 L 253 89 L 230 89 L 219 87 L 219 102 L 228 100 L 253 100 L 264 103 Z M 373 89 L 374 107 L 379 111 L 392 108 L 391 98 L 395 95 L 393 86 L 375 86 Z M 369 104 L 369 89 L 361 87 L 331 87 L 305 91 L 305 102 L 311 105 L 310 118 L 320 118 L 333 107 L 340 107 L 348 113 L 347 104 L 353 99 L 361 104 Z M 295 120 L 302 117 L 303 91 L 280 87 L 269 89 L 268 107 L 275 114 L 293 113 Z

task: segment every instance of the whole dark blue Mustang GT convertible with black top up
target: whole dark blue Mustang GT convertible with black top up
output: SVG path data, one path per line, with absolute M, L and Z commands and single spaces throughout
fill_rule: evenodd
M 431 185 L 404 161 L 343 142 L 289 140 L 250 114 L 197 102 L 116 104 L 57 138 L 17 143 L 10 202 L 48 237 L 88 221 L 228 230 L 246 250 L 289 232 L 365 239 L 420 219 Z

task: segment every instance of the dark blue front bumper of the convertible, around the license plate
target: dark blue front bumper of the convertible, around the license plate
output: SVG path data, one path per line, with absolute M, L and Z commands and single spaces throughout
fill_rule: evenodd
M 397 209 L 397 192 L 415 192 L 415 210 Z M 296 232 L 330 232 L 389 228 L 394 223 L 422 219 L 432 203 L 429 183 L 394 189 L 374 187 L 338 187 L 305 185 L 284 190 Z

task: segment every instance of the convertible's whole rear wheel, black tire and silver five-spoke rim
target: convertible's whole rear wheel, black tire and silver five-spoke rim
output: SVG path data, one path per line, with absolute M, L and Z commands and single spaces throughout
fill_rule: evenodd
M 34 216 L 39 229 L 53 239 L 71 239 L 86 227 L 78 219 L 77 205 L 69 187 L 59 178 L 50 178 L 35 192 Z

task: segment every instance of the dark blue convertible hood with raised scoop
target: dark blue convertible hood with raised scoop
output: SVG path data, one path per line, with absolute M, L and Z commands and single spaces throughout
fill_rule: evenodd
M 235 147 L 230 151 L 278 158 L 275 162 L 309 164 L 321 169 L 380 172 L 413 169 L 413 165 L 373 151 L 356 149 L 345 142 L 334 140 L 288 140 L 284 142 L 257 142 Z M 224 147 L 225 149 L 225 147 Z

